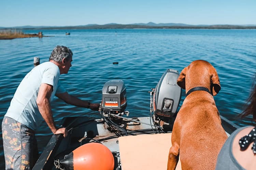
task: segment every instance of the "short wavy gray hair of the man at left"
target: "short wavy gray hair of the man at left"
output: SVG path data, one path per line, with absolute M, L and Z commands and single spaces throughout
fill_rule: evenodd
M 56 46 L 53 49 L 51 56 L 49 57 L 49 61 L 53 60 L 55 62 L 60 63 L 63 58 L 67 58 L 67 60 L 70 60 L 72 55 L 73 55 L 73 53 L 68 47 Z

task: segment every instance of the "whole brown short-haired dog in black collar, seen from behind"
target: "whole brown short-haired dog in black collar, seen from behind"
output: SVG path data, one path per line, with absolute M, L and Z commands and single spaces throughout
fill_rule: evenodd
M 187 97 L 173 124 L 167 169 L 176 168 L 179 156 L 182 169 L 215 169 L 227 139 L 213 99 L 221 89 L 218 74 L 207 61 L 196 60 L 181 71 L 177 84 Z

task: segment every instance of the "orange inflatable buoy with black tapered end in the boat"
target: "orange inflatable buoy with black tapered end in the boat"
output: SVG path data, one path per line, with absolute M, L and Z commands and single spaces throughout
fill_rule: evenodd
M 76 148 L 60 164 L 67 170 L 113 170 L 112 152 L 101 143 L 86 143 Z

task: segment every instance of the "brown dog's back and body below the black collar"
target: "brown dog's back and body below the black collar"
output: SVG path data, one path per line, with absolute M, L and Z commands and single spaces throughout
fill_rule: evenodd
M 190 94 L 177 114 L 173 135 L 180 135 L 183 169 L 214 169 L 217 155 L 226 141 L 215 102 L 209 100 L 208 95 L 205 91 Z

